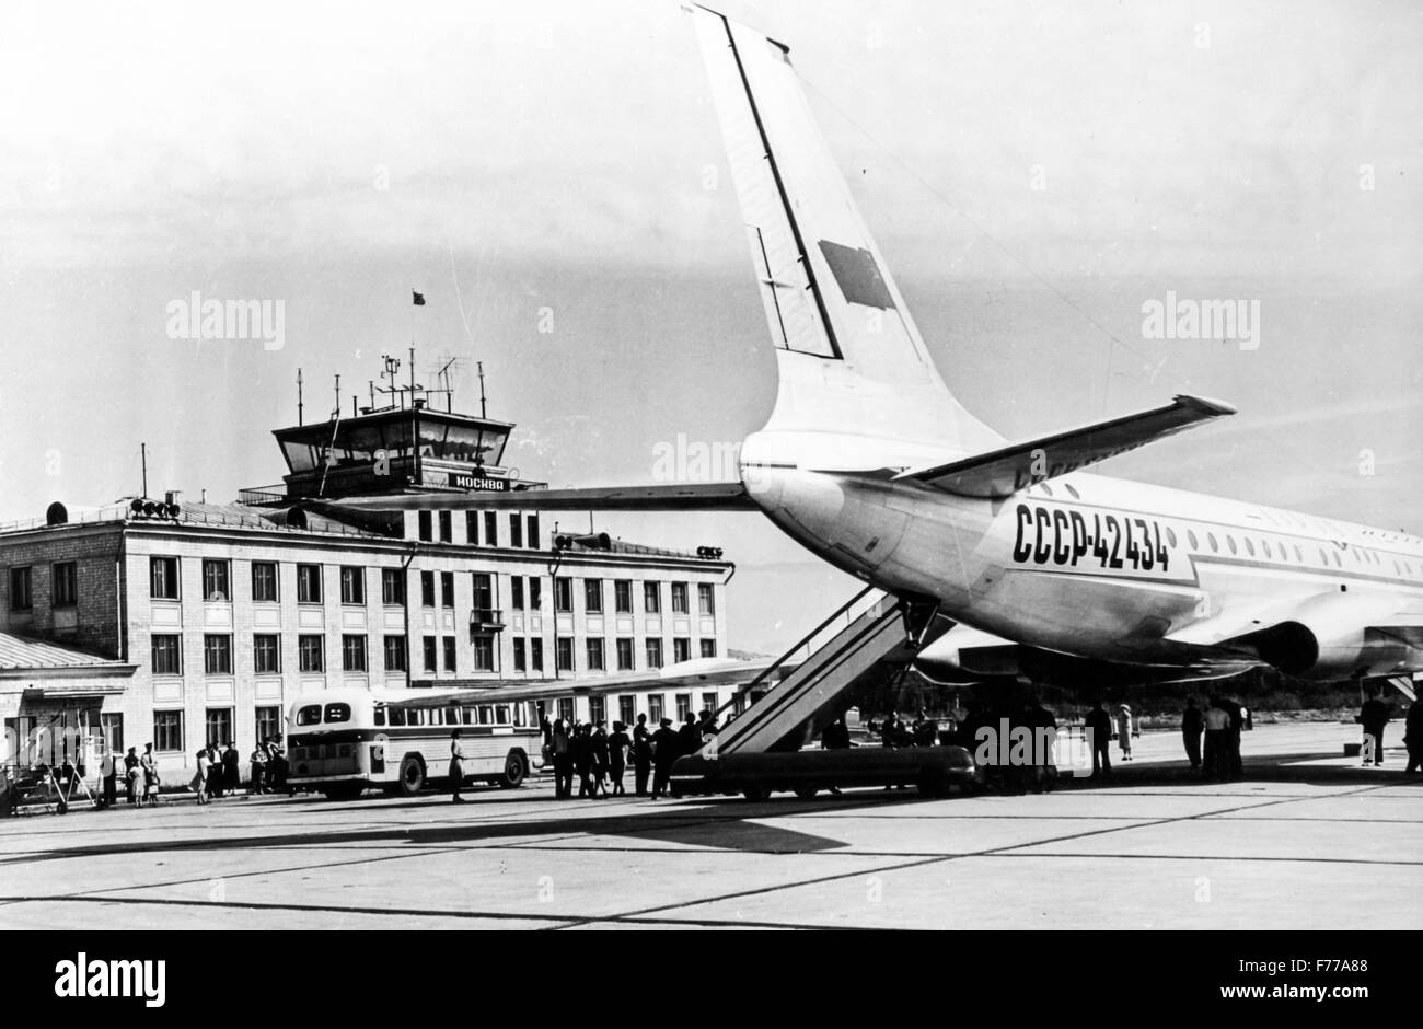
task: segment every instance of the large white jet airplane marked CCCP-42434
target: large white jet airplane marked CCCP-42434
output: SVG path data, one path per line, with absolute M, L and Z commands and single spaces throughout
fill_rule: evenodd
M 440 507 L 760 511 L 946 621 L 931 679 L 1312 680 L 1423 670 L 1423 539 L 1093 474 L 1235 410 L 1160 407 L 1009 441 L 955 397 L 815 124 L 790 50 L 690 7 L 778 391 L 736 482 L 440 495 Z M 428 495 L 344 501 L 428 507 Z

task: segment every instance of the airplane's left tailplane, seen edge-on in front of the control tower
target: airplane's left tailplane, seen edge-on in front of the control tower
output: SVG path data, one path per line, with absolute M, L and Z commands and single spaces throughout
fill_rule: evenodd
M 324 501 L 333 508 L 420 511 L 756 511 L 740 482 L 660 482 L 656 485 L 591 485 L 571 490 L 508 490 L 474 492 L 411 492 L 390 497 L 346 497 Z

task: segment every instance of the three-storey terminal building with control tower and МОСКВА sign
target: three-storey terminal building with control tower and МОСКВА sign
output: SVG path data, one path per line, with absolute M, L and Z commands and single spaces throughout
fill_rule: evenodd
M 77 730 L 120 751 L 152 743 L 174 774 L 208 742 L 245 764 L 320 689 L 541 685 L 549 716 L 656 723 L 753 677 L 724 660 L 719 549 L 555 538 L 532 508 L 470 508 L 541 488 L 501 464 L 514 426 L 388 393 L 386 408 L 276 430 L 283 482 L 235 504 L 53 504 L 0 529 L 4 760 L 55 760 Z M 333 502 L 408 492 L 430 507 Z

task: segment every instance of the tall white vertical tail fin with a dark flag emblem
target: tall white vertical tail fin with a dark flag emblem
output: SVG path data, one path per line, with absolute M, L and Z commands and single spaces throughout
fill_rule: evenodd
M 766 428 L 965 454 L 1000 444 L 939 377 L 788 50 L 706 7 L 692 14 L 777 349 Z

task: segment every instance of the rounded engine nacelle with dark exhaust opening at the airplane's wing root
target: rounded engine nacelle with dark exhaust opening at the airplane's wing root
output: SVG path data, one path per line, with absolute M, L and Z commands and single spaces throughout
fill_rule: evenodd
M 1386 623 L 1393 602 L 1349 593 L 1329 593 L 1301 605 L 1295 618 L 1251 633 L 1261 660 L 1285 675 L 1318 682 L 1383 676 L 1410 656 L 1400 639 L 1369 629 Z

